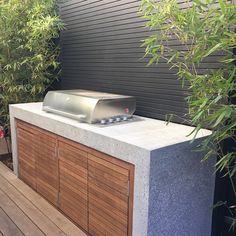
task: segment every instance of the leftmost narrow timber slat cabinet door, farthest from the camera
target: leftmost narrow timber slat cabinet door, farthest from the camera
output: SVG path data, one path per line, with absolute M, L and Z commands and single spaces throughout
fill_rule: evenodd
M 36 190 L 36 157 L 37 144 L 35 131 L 28 129 L 23 123 L 17 122 L 17 146 L 19 160 L 19 177 Z

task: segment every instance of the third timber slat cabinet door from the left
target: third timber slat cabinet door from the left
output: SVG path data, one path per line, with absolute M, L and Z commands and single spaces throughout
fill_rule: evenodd
M 83 146 L 60 139 L 60 209 L 85 231 L 88 230 L 87 152 Z

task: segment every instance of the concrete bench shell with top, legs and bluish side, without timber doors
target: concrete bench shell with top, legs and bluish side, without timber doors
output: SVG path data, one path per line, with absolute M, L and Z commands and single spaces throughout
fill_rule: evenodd
M 101 126 L 42 111 L 42 103 L 10 106 L 14 172 L 18 175 L 17 120 L 134 166 L 133 236 L 210 236 L 214 158 L 201 162 L 190 144 L 192 127 L 135 117 Z M 131 227 L 131 226 L 130 226 Z

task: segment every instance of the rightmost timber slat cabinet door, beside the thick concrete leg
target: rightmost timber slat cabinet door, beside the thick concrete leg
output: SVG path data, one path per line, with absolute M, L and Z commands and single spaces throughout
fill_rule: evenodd
M 88 172 L 89 233 L 131 235 L 133 166 L 94 152 L 88 155 Z

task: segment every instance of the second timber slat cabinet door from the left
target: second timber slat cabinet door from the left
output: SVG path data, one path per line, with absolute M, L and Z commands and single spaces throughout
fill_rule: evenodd
M 38 129 L 35 142 L 38 146 L 35 153 L 37 192 L 57 206 L 59 192 L 57 137 L 47 131 Z

